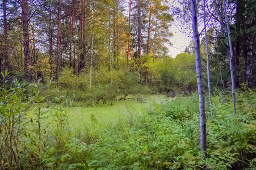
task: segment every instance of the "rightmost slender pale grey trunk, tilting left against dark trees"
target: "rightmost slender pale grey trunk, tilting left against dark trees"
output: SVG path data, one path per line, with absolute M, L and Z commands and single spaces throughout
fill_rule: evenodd
M 226 1 L 223 0 L 224 5 L 224 12 L 225 12 L 225 20 L 226 20 L 226 29 L 228 31 L 228 42 L 229 42 L 229 65 L 230 65 L 230 75 L 231 75 L 231 83 L 232 83 L 232 98 L 233 98 L 233 110 L 234 114 L 236 114 L 236 99 L 234 94 L 234 72 L 233 72 L 233 48 L 232 48 L 232 41 L 230 36 L 230 28 L 229 28 L 229 21 L 228 15 L 226 14 Z

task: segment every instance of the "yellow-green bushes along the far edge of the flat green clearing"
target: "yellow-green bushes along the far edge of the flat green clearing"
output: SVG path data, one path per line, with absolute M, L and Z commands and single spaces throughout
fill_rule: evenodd
M 61 95 L 67 100 L 83 101 L 87 106 L 96 105 L 99 100 L 121 100 L 128 95 L 150 94 L 148 86 L 139 84 L 137 73 L 123 70 L 100 69 L 93 73 L 92 84 L 89 74 L 74 75 L 72 69 L 64 69 L 58 79 Z

